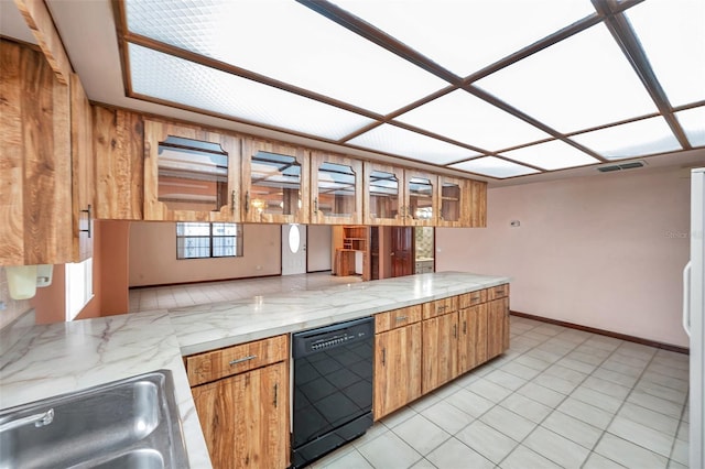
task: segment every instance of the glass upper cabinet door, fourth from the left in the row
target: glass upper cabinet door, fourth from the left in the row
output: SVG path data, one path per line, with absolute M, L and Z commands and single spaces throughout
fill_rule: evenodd
M 401 201 L 404 171 L 394 166 L 365 163 L 365 222 L 403 225 Z

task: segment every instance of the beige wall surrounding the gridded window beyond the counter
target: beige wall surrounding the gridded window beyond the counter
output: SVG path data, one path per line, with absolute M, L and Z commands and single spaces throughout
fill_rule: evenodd
M 243 225 L 243 257 L 176 260 L 173 222 L 130 225 L 130 286 L 281 273 L 281 225 Z

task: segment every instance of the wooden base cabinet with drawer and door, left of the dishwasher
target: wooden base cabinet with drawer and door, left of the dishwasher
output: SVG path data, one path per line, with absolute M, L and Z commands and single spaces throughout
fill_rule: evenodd
M 186 357 L 215 469 L 289 466 L 288 357 L 286 335 Z

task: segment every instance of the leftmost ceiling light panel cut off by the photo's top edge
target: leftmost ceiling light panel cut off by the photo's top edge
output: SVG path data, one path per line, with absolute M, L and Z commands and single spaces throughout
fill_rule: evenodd
M 382 114 L 447 85 L 291 0 L 126 6 L 133 33 Z

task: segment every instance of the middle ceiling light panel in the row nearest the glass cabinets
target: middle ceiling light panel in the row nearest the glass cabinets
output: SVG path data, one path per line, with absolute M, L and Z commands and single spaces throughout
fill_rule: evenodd
M 347 143 L 431 164 L 447 164 L 479 154 L 388 123 L 365 132 Z

